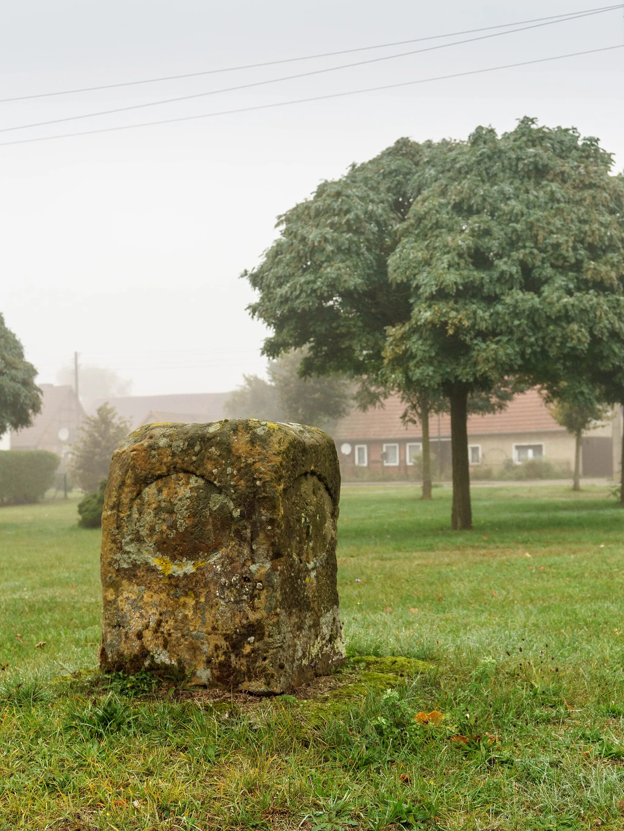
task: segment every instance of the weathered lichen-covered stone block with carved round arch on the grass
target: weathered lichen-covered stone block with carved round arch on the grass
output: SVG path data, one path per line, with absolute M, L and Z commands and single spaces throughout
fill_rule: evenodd
M 265 694 L 329 673 L 344 659 L 339 489 L 334 441 L 313 427 L 131 433 L 102 514 L 102 668 Z

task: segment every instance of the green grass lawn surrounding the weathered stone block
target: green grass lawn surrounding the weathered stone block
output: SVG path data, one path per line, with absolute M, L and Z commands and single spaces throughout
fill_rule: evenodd
M 71 676 L 97 664 L 99 532 L 72 500 L 0 509 L 0 829 L 624 829 L 624 512 L 478 488 L 452 532 L 448 489 L 418 493 L 343 489 L 354 683 L 225 706 Z M 391 655 L 428 663 L 358 658 Z

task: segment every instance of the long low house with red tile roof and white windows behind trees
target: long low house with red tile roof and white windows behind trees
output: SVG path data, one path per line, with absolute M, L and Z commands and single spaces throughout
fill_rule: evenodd
M 339 421 L 334 439 L 345 480 L 419 478 L 423 432 L 419 424 L 405 425 L 403 412 L 399 396 L 391 396 L 384 406 L 353 410 Z M 450 477 L 448 414 L 430 417 L 429 439 L 433 477 Z M 489 478 L 506 466 L 532 459 L 551 462 L 564 475 L 573 469 L 574 447 L 574 436 L 557 424 L 537 390 L 515 396 L 503 412 L 468 417 L 468 457 L 474 478 Z M 583 436 L 582 475 L 617 474 L 621 448 L 622 416 L 617 411 Z

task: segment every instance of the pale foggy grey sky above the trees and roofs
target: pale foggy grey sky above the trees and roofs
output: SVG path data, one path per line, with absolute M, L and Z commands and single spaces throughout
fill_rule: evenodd
M 21 0 L 0 6 L 0 97 L 297 57 L 571 12 L 602 3 Z M 605 4 L 606 5 L 606 4 Z M 452 38 L 456 39 L 456 38 Z M 288 101 L 624 42 L 622 9 L 255 90 L 34 130 L 34 135 Z M 426 44 L 423 44 L 426 45 Z M 191 95 L 404 51 L 396 47 L 122 90 L 0 105 L 0 128 Z M 409 47 L 407 47 L 409 48 Z M 414 45 L 412 48 L 418 48 Z M 465 138 L 521 116 L 576 125 L 624 165 L 624 49 L 102 135 L 0 146 L 0 311 L 52 382 L 85 363 L 137 395 L 232 389 L 262 372 L 264 334 L 238 278 L 275 238 L 275 216 L 320 179 L 399 136 Z

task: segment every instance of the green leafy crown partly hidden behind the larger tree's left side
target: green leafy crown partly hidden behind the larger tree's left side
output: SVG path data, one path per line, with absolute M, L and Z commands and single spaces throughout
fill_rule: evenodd
M 400 139 L 278 218 L 280 237 L 245 272 L 260 293 L 250 311 L 273 329 L 266 355 L 307 346 L 306 373 L 377 376 L 386 327 L 409 317 L 409 291 L 389 283 L 388 258 L 421 154 Z

